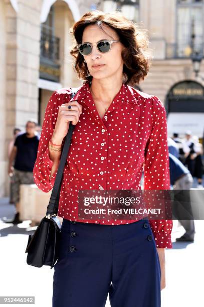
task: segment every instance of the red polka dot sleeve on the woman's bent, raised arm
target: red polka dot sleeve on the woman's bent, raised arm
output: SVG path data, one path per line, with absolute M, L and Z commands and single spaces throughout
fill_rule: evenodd
M 64 91 L 55 91 L 50 97 L 46 107 L 41 137 L 38 145 L 37 159 L 33 170 L 34 182 L 38 188 L 44 192 L 49 192 L 53 188 L 57 175 L 56 170 L 50 178 L 53 161 L 49 156 L 49 140 L 51 139 L 55 129 L 59 106 L 68 102 L 70 98 L 71 93 L 66 93 L 65 95 Z

